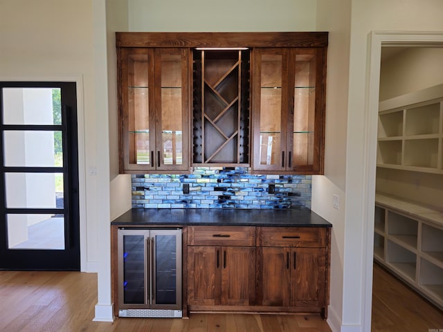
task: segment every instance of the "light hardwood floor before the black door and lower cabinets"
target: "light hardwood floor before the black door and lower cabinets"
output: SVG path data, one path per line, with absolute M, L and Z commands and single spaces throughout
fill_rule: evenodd
M 192 314 L 93 322 L 97 275 L 0 271 L 1 332 L 330 332 L 319 315 Z

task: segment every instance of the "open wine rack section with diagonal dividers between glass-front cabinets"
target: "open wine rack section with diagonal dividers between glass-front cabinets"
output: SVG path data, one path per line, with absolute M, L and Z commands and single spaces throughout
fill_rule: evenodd
M 249 50 L 194 50 L 193 164 L 249 163 Z

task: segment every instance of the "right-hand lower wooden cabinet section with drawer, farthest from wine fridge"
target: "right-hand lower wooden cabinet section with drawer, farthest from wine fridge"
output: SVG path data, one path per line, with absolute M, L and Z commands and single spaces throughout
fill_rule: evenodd
M 258 305 L 291 306 L 308 311 L 325 309 L 327 249 L 324 230 L 257 230 L 260 245 L 257 247 Z

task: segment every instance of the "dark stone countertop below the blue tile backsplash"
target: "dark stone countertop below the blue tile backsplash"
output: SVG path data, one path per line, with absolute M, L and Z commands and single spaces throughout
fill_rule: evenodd
M 332 227 L 311 210 L 136 209 L 116 218 L 111 225 L 220 225 Z

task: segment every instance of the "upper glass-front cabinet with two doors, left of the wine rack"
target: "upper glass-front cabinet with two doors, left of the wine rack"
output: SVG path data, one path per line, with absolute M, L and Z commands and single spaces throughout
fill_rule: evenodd
M 188 49 L 120 48 L 120 171 L 188 171 Z

